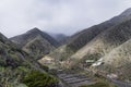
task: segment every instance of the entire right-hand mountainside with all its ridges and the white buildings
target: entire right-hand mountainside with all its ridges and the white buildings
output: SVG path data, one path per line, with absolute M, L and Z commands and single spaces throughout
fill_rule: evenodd
M 131 9 L 84 29 L 39 63 L 55 69 L 88 70 L 103 76 L 131 80 Z M 48 63 L 47 63 L 48 62 Z M 86 71 L 85 71 L 86 72 Z

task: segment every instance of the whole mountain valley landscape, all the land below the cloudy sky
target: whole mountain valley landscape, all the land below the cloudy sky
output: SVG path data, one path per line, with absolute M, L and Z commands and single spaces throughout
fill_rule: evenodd
M 131 8 L 71 36 L 0 33 L 0 87 L 131 87 Z

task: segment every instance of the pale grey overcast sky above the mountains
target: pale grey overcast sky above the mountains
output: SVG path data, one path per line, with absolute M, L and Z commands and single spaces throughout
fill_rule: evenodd
M 72 35 L 131 8 L 131 0 L 0 0 L 0 33 L 7 37 L 34 27 Z

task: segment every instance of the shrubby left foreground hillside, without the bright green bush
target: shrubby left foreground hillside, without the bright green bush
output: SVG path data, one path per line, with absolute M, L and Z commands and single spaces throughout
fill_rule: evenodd
M 17 87 L 32 71 L 44 72 L 29 54 L 0 34 L 0 86 Z

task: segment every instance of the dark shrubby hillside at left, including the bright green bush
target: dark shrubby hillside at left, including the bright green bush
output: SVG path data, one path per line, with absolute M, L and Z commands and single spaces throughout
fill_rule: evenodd
M 0 87 L 58 87 L 58 80 L 44 70 L 47 67 L 0 34 Z

